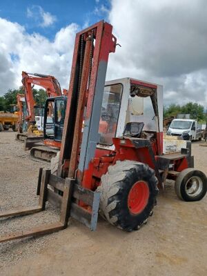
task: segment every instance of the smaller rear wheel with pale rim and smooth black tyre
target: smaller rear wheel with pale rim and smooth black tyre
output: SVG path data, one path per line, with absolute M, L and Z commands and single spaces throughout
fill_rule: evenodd
M 194 187 L 194 188 L 193 188 Z M 186 168 L 175 181 L 175 193 L 184 201 L 199 201 L 207 192 L 207 178 L 204 172 Z

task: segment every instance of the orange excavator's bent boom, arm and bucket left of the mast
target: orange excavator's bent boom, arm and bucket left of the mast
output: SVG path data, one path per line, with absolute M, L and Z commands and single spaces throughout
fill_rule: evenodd
M 21 127 L 19 126 L 19 132 L 17 134 L 17 141 L 24 141 L 25 149 L 28 150 L 32 148 L 35 143 L 41 142 L 43 139 L 43 132 L 38 129 L 35 120 L 35 102 L 32 92 L 34 85 L 41 86 L 46 89 L 48 97 L 59 97 L 67 94 L 67 90 L 63 89 L 61 91 L 61 86 L 59 81 L 53 76 L 42 75 L 37 73 L 22 72 L 23 88 L 25 90 L 26 99 L 26 124 L 27 133 L 21 132 Z M 21 120 L 19 121 L 21 125 Z

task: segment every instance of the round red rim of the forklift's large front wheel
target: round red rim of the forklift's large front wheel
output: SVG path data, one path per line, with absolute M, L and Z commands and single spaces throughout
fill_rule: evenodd
M 128 208 L 130 213 L 137 215 L 141 213 L 149 199 L 149 188 L 145 181 L 137 181 L 128 194 Z

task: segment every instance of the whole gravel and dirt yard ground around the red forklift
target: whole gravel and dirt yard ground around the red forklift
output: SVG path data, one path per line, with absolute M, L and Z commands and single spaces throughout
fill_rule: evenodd
M 14 132 L 0 132 L 0 210 L 34 205 L 41 163 L 28 158 Z M 195 167 L 207 174 L 207 147 L 193 143 Z M 26 199 L 25 199 L 26 198 Z M 0 219 L 0 233 L 58 219 L 48 206 L 27 218 Z M 97 231 L 75 220 L 59 233 L 0 245 L 0 275 L 206 275 L 207 197 L 177 199 L 172 183 L 160 193 L 141 230 L 124 233 L 99 219 Z

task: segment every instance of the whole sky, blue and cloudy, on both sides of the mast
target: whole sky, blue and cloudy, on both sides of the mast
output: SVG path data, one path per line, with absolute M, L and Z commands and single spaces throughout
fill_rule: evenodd
M 206 0 L 63 2 L 0 4 L 0 95 L 21 86 L 22 70 L 54 75 L 68 88 L 75 33 L 106 19 L 121 44 L 107 79 L 159 83 L 166 105 L 198 101 L 207 108 Z

